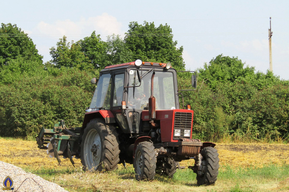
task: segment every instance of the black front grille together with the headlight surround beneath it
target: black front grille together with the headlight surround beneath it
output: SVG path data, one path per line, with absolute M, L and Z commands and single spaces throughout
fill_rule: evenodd
M 174 132 L 175 129 L 179 129 L 181 136 L 173 135 L 173 139 L 176 140 L 179 138 L 190 138 L 184 137 L 184 130 L 190 130 L 191 126 L 192 126 L 192 113 L 175 112 Z

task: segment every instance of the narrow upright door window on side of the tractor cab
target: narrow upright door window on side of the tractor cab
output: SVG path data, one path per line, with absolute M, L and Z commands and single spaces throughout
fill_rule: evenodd
M 115 75 L 114 77 L 113 106 L 120 106 L 123 100 L 124 78 L 124 73 Z

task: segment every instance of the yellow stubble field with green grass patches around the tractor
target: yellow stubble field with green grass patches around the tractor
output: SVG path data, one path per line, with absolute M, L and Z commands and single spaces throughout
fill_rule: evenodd
M 69 159 L 62 166 L 46 151 L 38 149 L 35 141 L 0 138 L 0 161 L 33 172 L 68 191 L 289 191 L 289 145 L 269 143 L 217 143 L 220 169 L 216 184 L 197 186 L 192 170 L 177 170 L 173 178 L 155 176 L 151 182 L 134 180 L 134 168 L 108 173 L 83 172 L 79 159 L 75 168 Z M 181 161 L 190 166 L 193 161 Z

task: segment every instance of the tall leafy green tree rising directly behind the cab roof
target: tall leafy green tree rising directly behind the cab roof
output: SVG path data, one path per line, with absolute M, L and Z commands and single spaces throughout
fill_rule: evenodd
M 174 68 L 184 69 L 183 47 L 176 47 L 177 41 L 173 41 L 172 29 L 167 24 L 155 27 L 153 22 L 144 21 L 143 25 L 130 22 L 125 44 L 132 51 L 134 60 L 172 62 Z

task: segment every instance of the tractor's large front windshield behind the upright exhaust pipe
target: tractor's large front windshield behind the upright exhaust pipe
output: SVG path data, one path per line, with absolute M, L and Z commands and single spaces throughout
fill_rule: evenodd
M 143 74 L 147 71 L 143 71 Z M 128 108 L 129 109 L 145 109 L 149 103 L 149 97 L 151 96 L 151 75 L 153 71 L 150 71 L 148 75 L 142 78 L 141 85 L 139 87 L 128 88 Z M 136 70 L 131 69 L 129 71 L 129 86 L 134 86 L 136 82 Z M 175 90 L 173 83 L 173 73 L 155 71 L 155 77 L 153 79 L 153 96 L 155 97 L 155 109 L 166 110 L 176 109 Z

